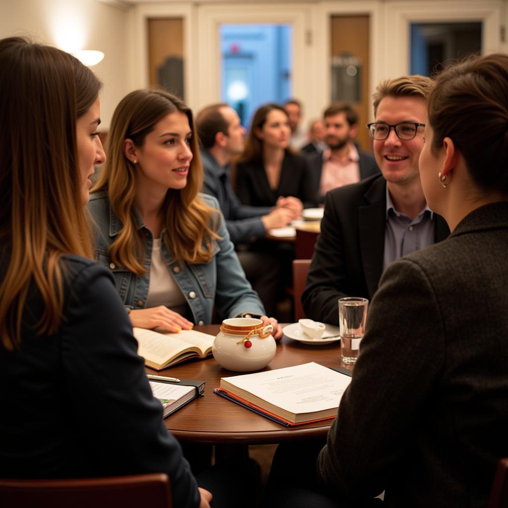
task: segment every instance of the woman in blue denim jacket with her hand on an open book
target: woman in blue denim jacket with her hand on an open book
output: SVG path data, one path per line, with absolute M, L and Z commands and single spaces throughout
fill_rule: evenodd
M 214 306 L 223 318 L 262 316 L 218 202 L 198 193 L 190 109 L 163 91 L 134 91 L 113 114 L 108 148 L 89 210 L 96 257 L 113 272 L 133 326 L 190 329 L 210 324 Z

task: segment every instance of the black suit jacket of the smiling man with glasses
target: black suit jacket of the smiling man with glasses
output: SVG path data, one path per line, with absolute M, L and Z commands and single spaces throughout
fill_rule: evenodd
M 434 214 L 435 241 L 450 234 Z M 331 190 L 325 199 L 302 304 L 310 319 L 338 325 L 337 300 L 372 299 L 383 272 L 386 226 L 386 180 L 375 175 Z

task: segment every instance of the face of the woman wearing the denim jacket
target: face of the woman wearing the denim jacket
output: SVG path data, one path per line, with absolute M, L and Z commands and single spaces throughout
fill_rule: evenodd
M 126 155 L 136 158 L 137 185 L 161 192 L 182 189 L 193 153 L 190 150 L 190 130 L 187 116 L 180 111 L 169 113 L 159 120 L 147 134 L 142 147 L 127 150 Z

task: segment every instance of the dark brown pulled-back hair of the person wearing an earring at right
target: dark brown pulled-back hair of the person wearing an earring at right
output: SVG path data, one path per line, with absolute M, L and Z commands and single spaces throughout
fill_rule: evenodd
M 508 55 L 473 56 L 444 70 L 428 114 L 433 153 L 451 138 L 481 189 L 508 193 Z

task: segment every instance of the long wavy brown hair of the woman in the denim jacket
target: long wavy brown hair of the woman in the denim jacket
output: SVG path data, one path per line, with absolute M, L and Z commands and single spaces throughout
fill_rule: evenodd
M 123 228 L 110 246 L 113 261 L 141 275 L 143 268 L 144 238 L 137 228 L 134 209 L 136 194 L 136 166 L 124 155 L 123 141 L 130 139 L 142 147 L 145 137 L 155 124 L 166 115 L 180 112 L 187 116 L 192 139 L 193 158 L 187 175 L 187 184 L 181 190 L 168 189 L 162 205 L 164 241 L 178 262 L 209 263 L 212 259 L 212 241 L 218 238 L 216 210 L 207 206 L 198 196 L 203 183 L 203 169 L 192 111 L 181 99 L 162 90 L 136 90 L 125 96 L 116 107 L 107 139 L 108 158 L 92 192 L 106 189 L 111 209 Z

